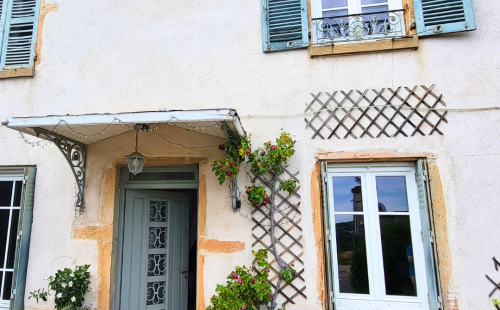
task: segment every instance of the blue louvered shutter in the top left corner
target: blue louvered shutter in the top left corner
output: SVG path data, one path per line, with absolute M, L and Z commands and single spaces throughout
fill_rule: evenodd
M 39 0 L 3 0 L 8 2 L 3 34 L 2 69 L 32 67 L 38 30 Z

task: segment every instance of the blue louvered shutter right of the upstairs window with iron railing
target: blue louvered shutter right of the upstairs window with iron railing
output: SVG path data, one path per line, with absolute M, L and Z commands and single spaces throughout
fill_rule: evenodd
M 477 28 L 473 0 L 413 0 L 413 6 L 419 36 Z

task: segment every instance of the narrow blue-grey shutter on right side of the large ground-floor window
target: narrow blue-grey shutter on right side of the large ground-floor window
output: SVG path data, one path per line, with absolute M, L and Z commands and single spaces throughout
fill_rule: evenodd
M 434 222 L 432 201 L 429 189 L 429 174 L 427 162 L 418 160 L 416 166 L 416 179 L 418 188 L 418 201 L 420 218 L 422 221 L 422 240 L 424 243 L 425 266 L 427 268 L 427 286 L 429 290 L 429 306 L 431 310 L 442 309 L 441 285 L 437 261 L 436 238 L 434 235 Z

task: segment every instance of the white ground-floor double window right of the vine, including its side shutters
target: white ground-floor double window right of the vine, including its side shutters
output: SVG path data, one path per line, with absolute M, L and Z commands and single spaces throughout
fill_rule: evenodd
M 440 309 L 425 162 L 322 170 L 331 309 Z

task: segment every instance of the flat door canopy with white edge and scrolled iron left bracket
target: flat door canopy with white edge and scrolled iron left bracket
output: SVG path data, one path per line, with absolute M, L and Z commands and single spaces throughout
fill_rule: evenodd
M 53 142 L 68 161 L 77 182 L 75 207 L 83 210 L 87 145 L 134 130 L 176 126 L 221 138 L 244 136 L 236 110 L 147 111 L 116 114 L 12 117 L 2 125 Z

